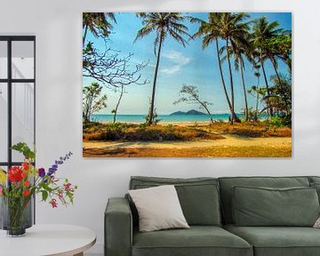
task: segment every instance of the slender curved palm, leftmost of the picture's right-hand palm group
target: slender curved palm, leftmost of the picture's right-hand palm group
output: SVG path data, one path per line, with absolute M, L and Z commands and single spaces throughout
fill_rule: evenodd
M 226 86 L 226 82 L 224 79 L 224 75 L 222 72 L 222 66 L 221 66 L 221 60 L 220 60 L 220 46 L 219 46 L 219 39 L 220 39 L 220 19 L 222 16 L 222 12 L 210 12 L 208 14 L 208 21 L 200 20 L 197 18 L 191 18 L 191 22 L 197 22 L 200 23 L 200 27 L 195 35 L 192 36 L 192 38 L 196 38 L 198 36 L 204 36 L 203 38 L 203 49 L 207 48 L 210 44 L 213 42 L 215 43 L 215 48 L 217 52 L 217 60 L 218 60 L 218 67 L 220 71 L 220 78 L 221 83 L 223 87 L 223 92 L 225 93 L 226 100 L 228 103 L 228 108 L 230 109 L 230 114 L 233 116 L 233 119 L 236 120 L 236 122 L 239 122 L 240 119 L 236 116 L 236 113 L 234 111 L 234 108 L 231 104 L 231 100 L 228 96 L 228 90 Z

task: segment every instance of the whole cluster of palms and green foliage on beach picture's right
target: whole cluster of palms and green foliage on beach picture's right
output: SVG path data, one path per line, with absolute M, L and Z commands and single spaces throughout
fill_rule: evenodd
M 291 33 L 290 31 L 284 31 L 282 28 L 278 28 L 277 21 L 268 22 L 267 18 L 262 17 L 259 20 L 245 20 L 250 16 L 246 13 L 230 13 L 230 12 L 218 12 L 209 13 L 208 20 L 199 20 L 191 18 L 192 22 L 200 23 L 199 30 L 193 37 L 203 37 L 203 48 L 208 47 L 210 44 L 215 44 L 216 54 L 218 59 L 218 66 L 220 68 L 220 77 L 223 90 L 228 101 L 228 106 L 231 114 L 231 124 L 233 121 L 240 122 L 240 119 L 235 113 L 235 96 L 234 96 L 234 79 L 233 70 L 231 68 L 230 57 L 233 55 L 235 61 L 235 69 L 241 72 L 241 81 L 244 91 L 244 121 L 249 120 L 249 109 L 247 103 L 247 89 L 244 82 L 244 57 L 249 60 L 252 68 L 258 69 L 254 75 L 260 77 L 259 69 L 262 68 L 264 77 L 265 90 L 267 95 L 263 95 L 261 99 L 268 108 L 268 114 L 270 117 L 274 116 L 274 112 L 278 112 L 280 109 L 276 109 L 275 104 L 271 104 L 271 99 L 279 97 L 279 95 L 272 95 L 270 86 L 268 84 L 268 76 L 266 74 L 265 63 L 266 60 L 270 60 L 273 68 L 275 69 L 277 81 L 282 84 L 282 79 L 277 71 L 277 60 L 284 60 L 290 68 L 291 72 Z M 219 39 L 223 39 L 225 44 L 219 46 Z M 220 57 L 221 53 L 225 52 L 226 56 Z M 228 61 L 228 75 L 229 75 L 229 87 L 230 95 L 228 94 L 227 85 L 222 71 L 223 62 Z M 258 80 L 259 81 L 259 80 Z M 253 90 L 260 85 L 252 86 Z M 291 87 L 291 84 L 290 84 Z M 260 88 L 258 88 L 260 89 Z M 249 91 L 250 92 L 250 91 Z M 256 111 L 258 112 L 259 93 L 257 92 L 257 105 Z M 288 105 L 288 108 L 291 108 Z M 265 108 L 261 111 L 263 112 Z M 256 119 L 257 119 L 257 115 Z M 278 116 L 282 118 L 281 116 Z M 287 123 L 287 122 L 285 122 Z

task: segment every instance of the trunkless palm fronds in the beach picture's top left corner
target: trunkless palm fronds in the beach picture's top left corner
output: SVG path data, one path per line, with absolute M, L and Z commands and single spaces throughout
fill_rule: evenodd
M 83 14 L 83 44 L 87 36 L 88 30 L 93 36 L 108 36 L 112 29 L 111 23 L 108 19 L 116 23 L 116 17 L 113 12 L 84 12 Z

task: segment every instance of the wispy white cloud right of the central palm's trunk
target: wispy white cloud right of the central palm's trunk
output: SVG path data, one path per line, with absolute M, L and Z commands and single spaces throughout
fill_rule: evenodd
M 191 58 L 176 51 L 164 52 L 162 57 L 167 60 L 167 67 L 160 68 L 160 72 L 165 75 L 172 75 L 179 72 L 183 66 L 188 65 L 191 61 Z

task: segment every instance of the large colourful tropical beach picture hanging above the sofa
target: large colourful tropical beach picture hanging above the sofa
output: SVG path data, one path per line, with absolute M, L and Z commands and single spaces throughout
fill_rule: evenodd
M 292 157 L 291 12 L 84 12 L 84 157 Z

